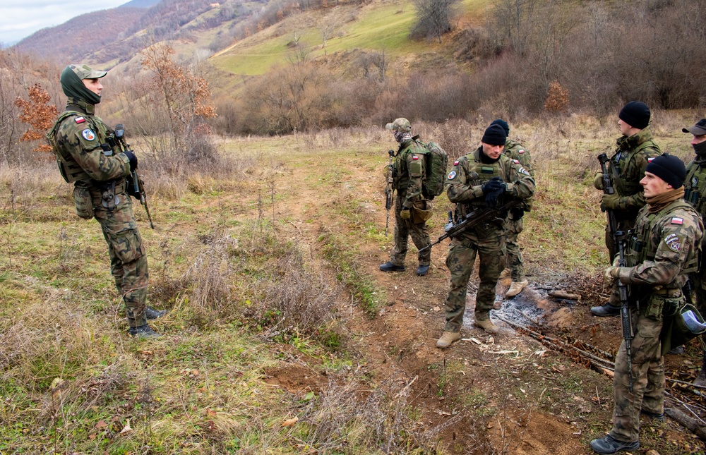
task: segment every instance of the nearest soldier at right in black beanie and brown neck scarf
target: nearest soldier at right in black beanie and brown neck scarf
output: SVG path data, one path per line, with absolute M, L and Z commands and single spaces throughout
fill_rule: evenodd
M 640 447 L 640 413 L 664 420 L 664 360 L 660 332 L 664 314 L 684 303 L 682 287 L 698 267 L 703 236 L 701 217 L 683 200 L 686 169 L 681 159 L 662 154 L 652 159 L 640 181 L 647 205 L 640 209 L 628 241 L 626 267 L 608 267 L 606 282 L 619 279 L 630 286 L 634 338 L 628 371 L 625 341 L 618 349 L 613 381 L 613 428 L 591 441 L 599 454 Z M 633 392 L 630 392 L 630 375 Z

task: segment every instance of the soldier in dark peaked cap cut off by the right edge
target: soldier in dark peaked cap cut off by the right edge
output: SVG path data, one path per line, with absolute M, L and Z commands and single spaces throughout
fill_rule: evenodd
M 706 217 L 706 119 L 701 119 L 694 126 L 682 128 L 684 133 L 691 133 L 694 138 L 691 145 L 694 147 L 696 157 L 686 166 L 686 180 L 684 181 L 684 200 L 701 214 L 701 218 Z M 702 244 L 702 250 L 704 245 Z M 696 305 L 702 315 L 706 315 L 706 261 L 701 257 L 699 272 L 689 275 L 691 289 L 696 297 Z M 702 335 L 706 341 L 706 336 Z M 706 351 L 702 351 L 703 362 L 701 372 L 694 381 L 694 384 L 706 386 Z

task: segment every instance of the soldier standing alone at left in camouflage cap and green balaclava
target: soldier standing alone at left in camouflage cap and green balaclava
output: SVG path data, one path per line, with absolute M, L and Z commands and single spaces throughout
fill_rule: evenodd
M 126 177 L 137 168 L 114 131 L 95 116 L 105 71 L 69 65 L 61 73 L 66 110 L 47 133 L 61 176 L 73 183 L 76 213 L 95 218 L 108 244 L 110 271 L 125 303 L 132 336 L 159 336 L 147 323 L 166 313 L 146 307 L 147 255 L 133 215 Z

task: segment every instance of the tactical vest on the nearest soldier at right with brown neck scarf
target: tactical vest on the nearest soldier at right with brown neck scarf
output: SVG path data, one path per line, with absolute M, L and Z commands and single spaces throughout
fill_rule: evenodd
M 657 252 L 657 246 L 654 245 L 652 241 L 652 226 L 654 222 L 659 219 L 668 217 L 670 213 L 675 210 L 682 209 L 686 212 L 691 212 L 698 217 L 698 213 L 684 200 L 676 200 L 671 202 L 671 204 L 664 207 L 664 209 L 655 213 L 647 213 L 645 217 L 640 217 L 638 219 L 638 224 L 635 225 L 635 229 L 630 231 L 630 238 L 628 240 L 628 253 L 626 255 L 626 265 L 628 267 L 635 267 L 645 261 L 654 260 L 654 254 Z M 662 241 L 662 238 L 659 238 Z M 696 272 L 699 265 L 699 244 L 693 245 L 693 248 L 689 251 L 686 261 L 682 265 L 680 274 L 688 274 L 691 272 Z M 669 286 L 665 286 L 668 288 Z M 681 287 L 681 286 L 676 286 Z

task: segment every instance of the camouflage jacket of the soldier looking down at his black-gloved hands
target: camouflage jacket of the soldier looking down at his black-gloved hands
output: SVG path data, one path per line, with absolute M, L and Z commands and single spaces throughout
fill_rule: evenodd
M 534 178 L 520 164 L 501 155 L 493 164 L 481 162 L 481 147 L 472 154 L 460 157 L 453 163 L 451 171 L 446 176 L 446 195 L 448 200 L 461 205 L 459 215 L 465 216 L 472 207 L 485 205 L 485 195 L 481 186 L 493 177 L 500 177 L 505 181 L 505 194 L 501 204 L 510 198 L 527 199 L 534 194 Z M 458 208 L 458 207 L 457 207 Z

